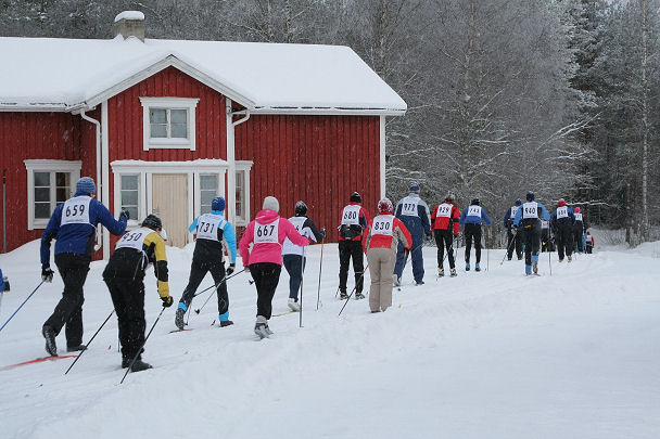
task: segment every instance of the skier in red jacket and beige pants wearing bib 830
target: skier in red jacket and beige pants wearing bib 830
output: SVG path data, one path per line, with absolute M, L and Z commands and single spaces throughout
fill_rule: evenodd
M 405 198 L 404 198 L 405 199 Z M 379 215 L 369 221 L 365 253 L 371 274 L 369 308 L 384 311 L 392 306 L 392 269 L 398 244 L 410 249 L 412 236 L 403 221 L 392 215 L 394 207 L 389 198 L 378 202 Z

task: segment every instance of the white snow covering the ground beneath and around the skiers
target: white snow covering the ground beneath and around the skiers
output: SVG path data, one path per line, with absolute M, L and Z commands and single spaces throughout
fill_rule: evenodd
M 215 297 L 194 331 L 169 334 L 165 311 L 147 345 L 153 370 L 130 374 L 117 352 L 116 319 L 64 376 L 71 360 L 0 371 L 2 438 L 657 438 L 660 432 L 660 281 L 657 244 L 634 251 L 597 248 L 568 264 L 541 257 L 543 276 L 519 261 L 436 280 L 424 248 L 426 285 L 394 292 L 394 307 L 370 314 L 367 300 L 334 299 L 337 245 L 309 253 L 304 327 L 274 318 L 256 341 L 254 286 L 229 281 L 233 326 L 219 328 Z M 178 300 L 192 248 L 169 249 Z M 484 253 L 484 261 L 486 254 Z M 0 322 L 39 284 L 38 243 L 0 255 L 12 292 Z M 458 260 L 462 260 L 462 249 Z M 482 263 L 486 266 L 486 263 Z M 239 262 L 240 266 L 240 262 Z M 85 288 L 85 340 L 112 311 L 93 262 Z M 446 268 L 446 262 L 445 262 Z M 287 311 L 285 271 L 274 312 Z M 367 276 L 368 285 L 369 280 Z M 202 287 L 212 284 L 210 277 Z M 147 325 L 161 311 L 147 277 Z M 350 276 L 350 287 L 353 286 Z M 60 298 L 45 284 L 0 332 L 0 366 L 46 354 L 40 328 Z M 206 293 L 192 304 L 199 308 Z M 64 332 L 58 337 L 62 352 Z

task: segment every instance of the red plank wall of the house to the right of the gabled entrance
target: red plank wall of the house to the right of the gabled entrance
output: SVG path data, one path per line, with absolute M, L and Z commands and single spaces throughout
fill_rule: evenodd
M 303 199 L 328 240 L 337 241 L 341 209 L 354 191 L 369 212 L 380 195 L 378 116 L 259 116 L 236 128 L 238 160 L 253 160 L 251 218 L 265 196 L 280 202 L 280 215 L 294 215 Z

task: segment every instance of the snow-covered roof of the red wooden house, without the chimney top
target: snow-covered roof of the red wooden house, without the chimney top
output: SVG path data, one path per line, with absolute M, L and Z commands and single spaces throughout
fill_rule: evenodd
M 259 42 L 0 38 L 0 109 L 97 105 L 169 65 L 252 111 L 403 114 L 351 48 Z

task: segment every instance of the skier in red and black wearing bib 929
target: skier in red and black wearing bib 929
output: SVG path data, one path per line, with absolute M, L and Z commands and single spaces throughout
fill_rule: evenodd
M 435 235 L 435 244 L 437 244 L 437 275 L 444 276 L 444 250 L 447 249 L 447 259 L 449 259 L 449 269 L 452 277 L 456 276 L 456 266 L 454 263 L 454 245 L 453 240 L 458 236 L 458 220 L 460 211 L 456 206 L 456 197 L 454 194 L 447 194 L 444 203 L 439 204 L 431 214 L 431 222 L 433 223 L 433 234 Z

